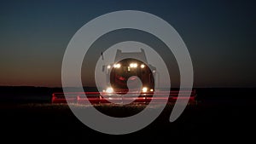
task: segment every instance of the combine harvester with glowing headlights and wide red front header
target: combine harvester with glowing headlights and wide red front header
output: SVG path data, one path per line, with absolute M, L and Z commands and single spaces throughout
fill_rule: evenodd
M 145 52 L 123 53 L 117 50 L 113 64 L 102 66 L 102 71 L 106 74 L 106 89 L 101 92 L 72 92 L 53 93 L 52 103 L 67 103 L 73 102 L 78 104 L 104 104 L 104 103 L 149 103 L 150 101 L 162 103 L 165 101 L 174 103 L 179 99 L 189 99 L 189 104 L 196 104 L 195 89 L 192 91 L 180 90 L 165 90 L 155 89 L 154 78 L 156 68 L 148 64 Z M 143 62 L 145 61 L 145 62 Z M 136 76 L 136 77 L 134 77 Z M 136 87 L 138 78 L 143 83 L 140 88 Z M 127 82 L 129 79 L 130 91 L 128 90 Z M 134 88 L 132 88 L 134 84 Z M 87 96 L 87 98 L 84 97 Z M 153 97 L 154 95 L 154 97 Z M 184 96 L 183 96 L 184 95 Z M 190 96 L 185 96 L 190 95 Z

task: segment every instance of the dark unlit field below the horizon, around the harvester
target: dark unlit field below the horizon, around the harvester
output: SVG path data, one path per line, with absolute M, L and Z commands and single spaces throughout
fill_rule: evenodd
M 10 89 L 16 89 L 9 91 Z M 1 140 L 19 143 L 253 143 L 255 141 L 255 89 L 196 89 L 198 105 L 188 106 L 177 121 L 168 121 L 167 105 L 154 123 L 129 135 L 105 135 L 79 122 L 65 104 L 49 103 L 52 91 L 32 89 L 38 95 L 1 88 Z M 9 92 L 9 93 L 8 93 Z M 5 95 L 3 95 L 5 94 Z M 9 95 L 9 97 L 8 97 Z M 24 96 L 26 95 L 26 96 Z M 74 107 L 81 108 L 77 105 Z M 138 112 L 144 105 L 98 105 L 110 115 Z M 90 117 L 90 116 L 88 116 Z

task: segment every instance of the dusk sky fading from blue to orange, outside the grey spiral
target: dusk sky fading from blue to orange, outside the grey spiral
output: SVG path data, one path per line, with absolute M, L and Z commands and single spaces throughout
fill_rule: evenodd
M 97 16 L 130 9 L 177 30 L 193 61 L 195 87 L 255 87 L 255 6 L 253 0 L 1 1 L 0 85 L 61 86 L 61 61 L 74 33 Z

